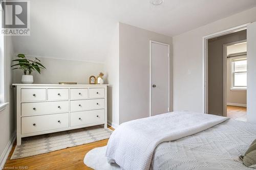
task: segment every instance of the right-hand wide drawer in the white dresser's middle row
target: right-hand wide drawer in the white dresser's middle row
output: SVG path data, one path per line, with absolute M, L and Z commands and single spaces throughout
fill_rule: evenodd
M 104 99 L 70 101 L 70 111 L 103 109 Z

